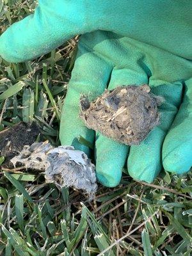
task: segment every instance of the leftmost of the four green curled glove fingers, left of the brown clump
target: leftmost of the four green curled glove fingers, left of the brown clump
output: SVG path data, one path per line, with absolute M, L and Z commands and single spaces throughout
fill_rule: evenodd
M 83 42 L 79 42 L 79 51 L 61 116 L 61 145 L 73 145 L 89 154 L 89 148 L 79 143 L 77 138 L 82 136 L 93 145 L 95 132 L 88 129 L 79 118 L 79 100 L 82 94 L 89 95 L 90 99 L 100 95 L 108 84 L 111 70 L 108 62 L 88 49 Z

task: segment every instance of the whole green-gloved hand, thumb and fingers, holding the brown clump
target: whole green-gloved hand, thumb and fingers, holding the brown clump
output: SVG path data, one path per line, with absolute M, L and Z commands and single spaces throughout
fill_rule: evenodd
M 186 3 L 184 3 L 186 2 Z M 25 61 L 84 34 L 68 85 L 60 140 L 88 154 L 79 135 L 95 141 L 97 179 L 105 186 L 120 182 L 128 170 L 152 182 L 162 168 L 184 173 L 192 164 L 191 15 L 189 1 L 39 0 L 35 15 L 13 24 L 0 37 L 0 55 Z M 92 99 L 104 88 L 148 83 L 162 95 L 161 124 L 131 148 L 87 129 L 79 119 L 79 97 Z M 96 138 L 96 140 L 95 140 Z

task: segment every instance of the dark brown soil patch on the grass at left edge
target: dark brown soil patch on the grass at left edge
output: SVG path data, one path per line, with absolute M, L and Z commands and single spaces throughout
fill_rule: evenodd
M 24 145 L 31 145 L 36 141 L 40 131 L 35 124 L 20 122 L 0 132 L 0 156 L 5 157 L 4 164 L 8 164 L 12 157 L 19 154 Z

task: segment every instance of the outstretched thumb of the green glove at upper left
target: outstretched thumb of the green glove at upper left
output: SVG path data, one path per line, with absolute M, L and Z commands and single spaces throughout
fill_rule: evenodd
M 0 37 L 0 55 L 10 62 L 50 52 L 88 29 L 82 1 L 39 0 L 33 15 L 16 22 Z M 78 15 L 74 15 L 78 13 Z

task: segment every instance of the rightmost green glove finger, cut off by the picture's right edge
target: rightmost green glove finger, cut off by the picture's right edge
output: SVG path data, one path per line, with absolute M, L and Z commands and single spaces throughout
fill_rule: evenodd
M 163 143 L 163 166 L 185 173 L 192 166 L 192 78 L 186 81 L 184 99 Z

